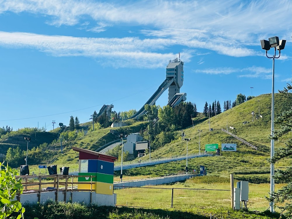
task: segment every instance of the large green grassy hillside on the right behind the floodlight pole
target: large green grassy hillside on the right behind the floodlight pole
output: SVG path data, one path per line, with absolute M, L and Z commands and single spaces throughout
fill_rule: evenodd
M 260 114 L 263 118 L 258 120 L 254 117 L 252 122 L 251 112 L 255 111 L 258 114 L 258 100 L 260 101 Z M 204 145 L 210 143 L 236 143 L 237 152 L 223 152 L 220 157 L 196 158 L 190 159 L 188 164 L 190 169 L 197 169 L 199 165 L 207 167 L 208 174 L 216 176 L 228 176 L 230 173 L 236 173 L 237 178 L 246 179 L 253 178 L 254 182 L 266 182 L 268 180 L 269 163 L 266 161 L 269 158 L 270 148 L 270 103 L 271 95 L 260 95 L 252 100 L 246 101 L 243 104 L 233 107 L 211 118 L 211 128 L 217 129 L 209 132 L 208 119 L 204 121 L 204 117 L 196 118 L 194 121 L 202 121 L 201 123 L 194 123 L 194 128 L 190 127 L 185 129 L 187 138 L 192 140 L 188 143 L 188 152 L 195 153 L 199 151 L 199 133 L 201 132 L 201 152 L 204 152 Z M 275 115 L 279 115 L 285 109 L 288 109 L 292 103 L 292 97 L 285 98 L 281 94 L 275 95 Z M 206 118 L 205 118 L 206 119 Z M 244 138 L 248 142 L 258 146 L 260 150 L 255 151 L 245 144 L 234 139 L 232 136 L 219 131 L 221 128 L 226 129 L 226 121 L 228 119 L 228 127 L 233 126 L 235 129 L 229 129 L 232 133 L 240 138 Z M 248 121 L 248 124 L 242 124 L 243 121 Z M 277 126 L 276 126 L 277 128 Z M 177 137 L 181 132 L 177 132 Z M 284 139 L 275 142 L 275 147 L 284 146 Z M 151 157 L 169 157 L 172 155 L 186 154 L 186 142 L 177 139 L 171 143 L 166 144 L 164 147 L 151 152 Z M 142 159 L 149 159 L 145 156 Z M 285 167 L 291 164 L 291 161 L 280 161 L 276 164 L 276 168 Z M 161 176 L 166 173 L 176 173 L 185 168 L 185 161 L 171 162 L 168 164 L 159 164 L 156 166 L 135 168 L 125 170 L 125 175 L 152 175 Z M 118 175 L 118 173 L 116 173 Z M 257 175 L 254 175 L 257 174 Z M 258 175 L 260 174 L 260 175 Z

